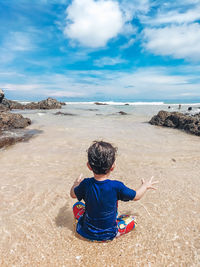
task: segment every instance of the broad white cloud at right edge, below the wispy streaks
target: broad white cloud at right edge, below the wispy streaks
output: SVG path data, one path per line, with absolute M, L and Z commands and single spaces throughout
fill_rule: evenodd
M 143 47 L 162 56 L 172 56 L 192 61 L 200 60 L 200 24 L 146 28 Z

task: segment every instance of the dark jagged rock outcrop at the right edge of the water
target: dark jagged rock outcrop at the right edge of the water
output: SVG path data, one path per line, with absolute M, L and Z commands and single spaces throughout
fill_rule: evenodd
M 153 125 L 165 126 L 184 130 L 200 136 L 200 113 L 188 115 L 179 112 L 159 111 L 149 122 Z

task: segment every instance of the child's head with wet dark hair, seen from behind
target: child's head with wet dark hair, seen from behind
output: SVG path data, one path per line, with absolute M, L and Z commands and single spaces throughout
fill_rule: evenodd
M 117 148 L 104 141 L 94 141 L 88 149 L 88 163 L 95 174 L 106 174 L 115 162 Z

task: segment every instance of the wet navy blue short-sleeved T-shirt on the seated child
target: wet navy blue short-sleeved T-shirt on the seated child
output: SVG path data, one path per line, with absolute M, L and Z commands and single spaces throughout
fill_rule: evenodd
M 77 232 L 91 240 L 110 240 L 117 235 L 117 201 L 133 200 L 136 192 L 122 182 L 95 178 L 84 179 L 74 192 L 85 201 L 85 213 Z

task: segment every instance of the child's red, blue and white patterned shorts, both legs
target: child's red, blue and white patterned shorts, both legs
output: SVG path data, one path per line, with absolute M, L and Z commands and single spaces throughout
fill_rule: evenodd
M 85 204 L 83 202 L 76 202 L 73 206 L 73 213 L 75 219 L 78 220 L 81 216 L 83 216 L 84 212 Z M 116 222 L 118 228 L 117 237 L 129 233 L 136 227 L 135 217 L 130 215 L 121 215 L 117 217 Z

